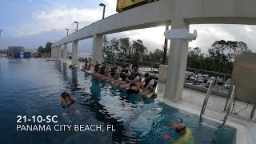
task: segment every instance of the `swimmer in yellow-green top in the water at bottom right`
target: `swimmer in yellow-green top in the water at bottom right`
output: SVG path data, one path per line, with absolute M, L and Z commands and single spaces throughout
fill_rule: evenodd
M 182 123 L 182 119 L 181 123 L 179 123 L 178 125 L 170 123 L 169 126 L 172 126 L 174 130 L 176 130 L 176 132 L 180 134 L 180 137 L 174 141 L 175 144 L 194 144 L 192 131 L 188 127 L 186 127 L 184 123 Z M 170 141 L 170 136 L 167 134 L 163 134 L 163 138 Z

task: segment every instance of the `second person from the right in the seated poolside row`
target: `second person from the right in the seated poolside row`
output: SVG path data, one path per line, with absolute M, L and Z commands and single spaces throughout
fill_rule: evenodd
M 126 84 L 120 85 L 122 89 L 131 88 L 140 81 L 140 74 L 138 73 L 137 67 L 134 67 L 131 71 L 130 77 L 126 78 Z

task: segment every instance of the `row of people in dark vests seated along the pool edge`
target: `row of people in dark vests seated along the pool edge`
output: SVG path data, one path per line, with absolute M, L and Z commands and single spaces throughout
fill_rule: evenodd
M 145 74 L 145 79 L 142 81 L 141 74 L 138 72 L 138 68 L 134 67 L 132 70 L 126 68 L 126 65 L 122 66 L 122 69 L 118 70 L 116 64 L 112 64 L 112 67 L 106 66 L 106 63 L 100 65 L 96 62 L 94 66 L 94 77 L 102 78 L 112 85 L 120 86 L 122 89 L 128 89 L 128 93 L 140 93 L 142 96 L 154 93 L 157 82 L 153 76 L 149 73 Z

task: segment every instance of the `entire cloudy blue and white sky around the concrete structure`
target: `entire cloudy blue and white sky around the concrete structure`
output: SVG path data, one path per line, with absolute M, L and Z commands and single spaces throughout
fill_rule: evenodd
M 8 46 L 38 48 L 46 42 L 57 42 L 66 36 L 66 28 L 73 33 L 102 18 L 102 7 L 106 4 L 106 17 L 115 14 L 116 0 L 0 0 L 0 49 Z M 109 34 L 111 38 L 142 39 L 149 50 L 162 48 L 165 27 L 132 30 Z M 243 41 L 256 52 L 256 26 L 247 25 L 190 25 L 190 31 L 198 30 L 198 39 L 190 42 L 206 52 L 217 40 Z M 70 49 L 70 45 L 69 49 Z M 92 39 L 79 42 L 80 52 L 91 52 Z

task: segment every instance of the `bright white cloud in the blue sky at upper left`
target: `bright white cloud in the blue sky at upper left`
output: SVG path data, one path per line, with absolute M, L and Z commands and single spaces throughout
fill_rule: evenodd
M 91 10 L 86 8 L 65 9 L 58 7 L 53 10 L 41 10 L 33 14 L 34 21 L 32 23 L 22 26 L 15 32 L 18 37 L 26 37 L 50 30 L 63 30 L 64 35 L 66 34 L 64 32 L 66 28 L 69 28 L 70 32 L 74 32 L 76 29 L 74 21 L 78 21 L 79 28 L 82 28 L 92 22 L 98 21 L 101 18 L 101 14 L 102 11 L 98 9 Z

